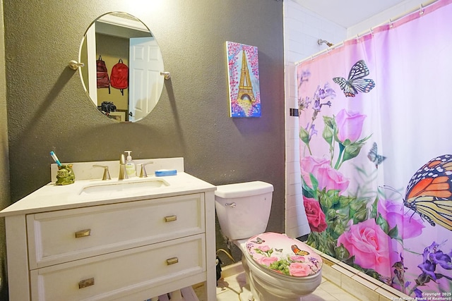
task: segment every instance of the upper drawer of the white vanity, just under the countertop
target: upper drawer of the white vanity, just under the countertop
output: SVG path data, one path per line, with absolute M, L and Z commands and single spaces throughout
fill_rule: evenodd
M 203 233 L 204 195 L 27 216 L 30 269 Z

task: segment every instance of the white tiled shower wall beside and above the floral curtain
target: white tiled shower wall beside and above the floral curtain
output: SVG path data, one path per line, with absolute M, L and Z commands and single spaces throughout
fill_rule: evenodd
M 298 118 L 290 116 L 290 109 L 297 109 L 297 78 L 295 63 L 327 49 L 326 44 L 317 44 L 318 39 L 337 44 L 344 39 L 361 34 L 390 18 L 420 8 L 425 1 L 407 0 L 367 20 L 341 27 L 313 13 L 292 0 L 284 1 L 284 51 L 285 51 L 285 140 L 286 140 L 286 233 L 297 238 L 309 233 L 304 213 L 301 173 L 299 168 Z M 357 10 L 358 12 L 359 10 Z

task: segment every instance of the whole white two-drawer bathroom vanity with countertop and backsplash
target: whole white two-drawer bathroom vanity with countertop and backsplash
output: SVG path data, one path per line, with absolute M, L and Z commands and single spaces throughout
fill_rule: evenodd
M 118 161 L 102 162 L 112 180 L 74 164 L 75 183 L 1 211 L 10 300 L 149 300 L 197 283 L 215 300 L 215 186 L 181 162 L 177 176 L 121 181 Z

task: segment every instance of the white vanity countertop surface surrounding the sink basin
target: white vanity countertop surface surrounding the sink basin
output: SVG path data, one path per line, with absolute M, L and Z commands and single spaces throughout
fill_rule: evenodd
M 0 211 L 0 216 L 32 214 L 44 211 L 73 209 L 102 204 L 115 204 L 136 201 L 139 199 L 155 199 L 157 197 L 171 197 L 174 195 L 216 190 L 214 185 L 191 176 L 188 173 L 179 171 L 177 176 L 148 176 L 148 178 L 129 178 L 119 182 L 126 183 L 155 179 L 165 180 L 169 185 L 162 186 L 160 188 L 150 188 L 148 190 L 143 190 L 143 188 L 136 191 L 128 190 L 126 193 L 114 192 L 105 194 L 96 193 L 90 195 L 81 193 L 83 188 L 91 185 L 109 185 L 110 183 L 118 182 L 118 178 L 103 181 L 76 180 L 75 183 L 69 185 L 56 185 L 55 183 L 49 183 Z

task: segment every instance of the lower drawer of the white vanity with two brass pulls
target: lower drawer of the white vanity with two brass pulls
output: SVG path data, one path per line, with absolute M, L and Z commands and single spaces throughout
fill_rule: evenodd
M 36 269 L 30 271 L 32 300 L 130 300 L 125 296 L 203 274 L 204 246 L 204 235 L 192 235 Z

